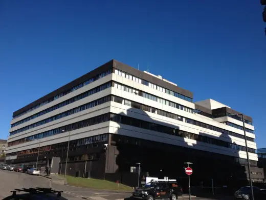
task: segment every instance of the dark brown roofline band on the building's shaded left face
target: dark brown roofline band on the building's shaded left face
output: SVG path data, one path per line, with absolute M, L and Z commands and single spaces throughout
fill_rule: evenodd
M 66 91 L 66 90 L 70 90 L 71 88 L 73 88 L 73 87 L 75 87 L 75 86 L 87 81 L 88 79 L 95 77 L 97 74 L 105 72 L 105 71 L 107 71 L 108 69 L 111 69 L 111 68 L 113 68 L 113 60 L 109 61 L 108 63 L 105 63 L 104 65 L 94 69 L 91 72 L 88 72 L 88 73 L 84 74 L 83 76 L 81 76 L 81 77 L 75 79 L 74 81 L 62 86 L 61 88 L 59 88 L 57 90 L 54 90 L 53 92 L 51 92 L 51 93 L 49 93 L 49 94 L 37 99 L 35 102 L 32 102 L 31 104 L 29 104 L 29 105 L 27 105 L 27 106 L 25 106 L 23 108 L 20 108 L 19 110 L 13 112 L 13 116 L 15 116 L 15 115 L 17 115 L 17 114 L 19 114 L 21 112 L 24 112 L 24 111 L 30 109 L 31 107 L 36 106 L 36 105 L 38 105 L 38 104 L 40 104 L 42 102 L 47 101 L 48 99 L 56 96 L 57 94 L 60 94 L 60 93 L 62 93 L 64 91 Z

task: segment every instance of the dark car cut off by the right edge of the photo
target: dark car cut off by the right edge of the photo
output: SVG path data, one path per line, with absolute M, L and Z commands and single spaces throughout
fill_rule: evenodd
M 263 190 L 260 190 L 258 187 L 253 186 L 253 194 L 254 199 L 252 199 L 251 195 L 251 187 L 241 187 L 239 190 L 235 192 L 235 199 L 247 199 L 247 200 L 265 200 L 266 193 Z

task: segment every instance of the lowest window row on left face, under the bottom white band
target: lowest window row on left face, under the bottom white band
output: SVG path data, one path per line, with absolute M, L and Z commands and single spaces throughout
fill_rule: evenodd
M 109 114 L 109 116 L 110 116 L 110 114 Z M 108 140 L 108 134 L 86 137 L 84 139 L 87 139 L 88 141 L 93 141 L 92 144 L 87 144 L 87 145 L 106 143 L 106 141 Z M 81 139 L 75 139 L 73 141 L 70 141 L 69 150 L 75 151 L 75 150 L 83 149 L 83 148 L 77 147 L 77 144 L 78 143 L 80 144 L 80 140 Z M 67 149 L 67 148 L 68 148 L 68 142 L 63 142 L 63 143 L 57 143 L 54 145 L 48 145 L 48 146 L 40 147 L 39 152 L 50 153 L 49 151 L 56 151 L 56 150 L 62 151 L 62 150 Z M 13 153 L 11 153 L 11 155 L 25 155 L 25 154 L 34 154 L 34 153 L 36 154 L 37 152 L 38 152 L 38 148 L 33 148 L 33 149 L 27 149 L 24 151 L 13 152 Z

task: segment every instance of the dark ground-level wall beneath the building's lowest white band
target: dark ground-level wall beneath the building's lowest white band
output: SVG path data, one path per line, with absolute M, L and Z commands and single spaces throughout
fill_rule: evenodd
M 106 143 L 107 148 L 104 145 Z M 7 162 L 34 165 L 36 159 L 37 155 L 23 155 Z M 186 191 L 186 162 L 193 163 L 190 166 L 193 169 L 190 183 L 194 188 L 212 187 L 212 184 L 217 188 L 248 185 L 246 166 L 235 162 L 233 157 L 121 135 L 109 134 L 108 142 L 99 144 L 71 146 L 67 165 L 66 149 L 62 148 L 42 152 L 38 159 L 38 167 L 53 166 L 51 173 L 64 174 L 66 170 L 67 175 L 119 181 L 132 187 L 138 185 L 138 173 L 130 173 L 130 169 L 138 167 L 140 163 L 139 185 L 144 181 L 143 176 L 167 176 L 169 179 L 177 179 Z M 262 170 L 252 167 L 251 171 L 256 172 L 252 174 L 252 179 L 264 178 Z

